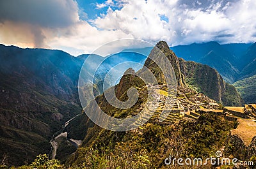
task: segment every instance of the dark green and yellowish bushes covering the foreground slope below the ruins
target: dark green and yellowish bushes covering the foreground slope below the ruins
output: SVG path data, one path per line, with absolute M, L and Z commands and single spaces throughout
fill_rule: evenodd
M 71 168 L 165 168 L 164 159 L 207 158 L 225 142 L 234 122 L 206 113 L 196 122 L 180 121 L 175 125 L 148 122 L 143 134 L 118 133 L 98 126 L 95 136 L 88 136 L 66 166 Z M 193 168 L 193 167 L 191 167 Z

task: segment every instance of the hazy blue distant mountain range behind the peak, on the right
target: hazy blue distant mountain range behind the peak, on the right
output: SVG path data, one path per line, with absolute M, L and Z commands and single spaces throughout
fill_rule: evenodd
M 233 84 L 256 73 L 253 62 L 256 58 L 256 43 L 231 43 L 220 45 L 216 41 L 193 43 L 171 48 L 178 57 L 215 68 L 224 80 Z

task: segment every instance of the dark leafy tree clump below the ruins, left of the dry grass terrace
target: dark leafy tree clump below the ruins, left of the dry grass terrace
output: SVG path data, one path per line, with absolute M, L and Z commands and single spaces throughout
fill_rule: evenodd
M 195 124 L 184 122 L 181 133 L 187 143 L 186 156 L 207 158 L 225 145 L 234 122 L 223 121 L 214 113 L 203 114 Z

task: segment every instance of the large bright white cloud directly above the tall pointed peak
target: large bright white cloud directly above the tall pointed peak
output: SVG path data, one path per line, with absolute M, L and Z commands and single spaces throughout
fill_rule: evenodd
M 166 15 L 163 11 L 168 11 L 163 1 L 129 1 L 122 10 L 108 10 L 108 14 L 102 18 L 93 20 L 100 29 L 121 30 L 126 34 L 132 34 L 136 38 L 150 41 L 160 39 L 170 40 L 173 35 L 172 29 L 159 15 Z M 172 11 L 171 11 L 172 12 Z

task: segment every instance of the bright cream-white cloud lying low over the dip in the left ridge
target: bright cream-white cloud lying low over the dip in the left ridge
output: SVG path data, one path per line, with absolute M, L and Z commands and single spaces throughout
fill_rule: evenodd
M 129 34 L 125 34 L 120 30 L 116 31 L 99 31 L 95 27 L 90 26 L 85 21 L 79 22 L 75 26 L 66 29 L 58 30 L 60 34 L 67 34 L 66 36 L 52 36 L 52 31 L 49 31 L 49 38 L 47 43 L 52 48 L 67 48 L 68 52 L 74 55 L 88 54 L 93 52 L 96 48 L 108 43 L 109 41 L 118 40 L 122 38 L 134 38 Z

